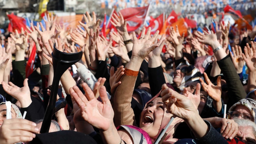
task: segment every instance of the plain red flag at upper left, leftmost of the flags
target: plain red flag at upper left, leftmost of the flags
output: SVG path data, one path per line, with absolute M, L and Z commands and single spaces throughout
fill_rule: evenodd
M 10 15 L 7 15 L 10 23 L 8 26 L 8 31 L 13 32 L 15 29 L 17 29 L 18 33 L 21 32 L 21 28 L 26 30 L 26 20 L 22 17 L 18 17 L 17 15 L 14 15 L 11 13 Z

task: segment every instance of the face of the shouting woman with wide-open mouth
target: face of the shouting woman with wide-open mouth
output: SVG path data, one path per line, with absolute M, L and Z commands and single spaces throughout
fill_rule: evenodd
M 146 105 L 146 108 L 140 115 L 140 128 L 148 133 L 153 138 L 155 137 L 162 124 L 164 115 L 164 103 L 162 98 L 157 97 Z

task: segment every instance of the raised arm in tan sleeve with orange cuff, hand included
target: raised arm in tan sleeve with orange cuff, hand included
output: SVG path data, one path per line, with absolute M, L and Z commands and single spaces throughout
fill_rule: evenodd
M 159 44 L 152 45 L 158 33 L 159 31 L 151 38 L 149 38 L 148 33 L 141 39 L 137 39 L 135 32 L 133 32 L 132 57 L 124 70 L 124 75 L 121 77 L 121 84 L 116 88 L 111 99 L 116 126 L 136 125 L 131 108 L 132 93 L 142 61 L 152 50 L 159 46 Z

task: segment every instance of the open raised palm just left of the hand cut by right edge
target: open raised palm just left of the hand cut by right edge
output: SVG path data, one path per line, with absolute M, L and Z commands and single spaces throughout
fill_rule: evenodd
M 244 59 L 242 57 L 242 49 L 240 46 L 238 47 L 236 45 L 235 48 L 232 47 L 232 51 L 233 51 L 233 55 L 231 52 L 229 52 L 230 57 L 231 57 L 232 62 L 236 68 L 236 72 L 238 74 L 240 74 L 243 71 L 243 67 L 244 67 Z

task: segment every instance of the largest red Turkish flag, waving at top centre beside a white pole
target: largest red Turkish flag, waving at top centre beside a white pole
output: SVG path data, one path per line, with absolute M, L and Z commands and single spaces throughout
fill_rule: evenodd
M 124 19 L 127 20 L 127 30 L 135 31 L 142 25 L 145 21 L 148 6 L 146 7 L 130 7 L 124 10 L 120 10 Z

